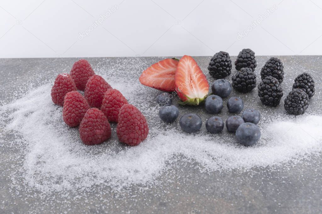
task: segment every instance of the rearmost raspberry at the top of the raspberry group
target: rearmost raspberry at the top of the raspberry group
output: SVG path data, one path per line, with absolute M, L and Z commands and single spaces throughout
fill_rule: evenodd
M 81 59 L 74 63 L 71 68 L 71 77 L 74 79 L 78 90 L 83 91 L 86 86 L 86 82 L 95 73 L 86 59 Z

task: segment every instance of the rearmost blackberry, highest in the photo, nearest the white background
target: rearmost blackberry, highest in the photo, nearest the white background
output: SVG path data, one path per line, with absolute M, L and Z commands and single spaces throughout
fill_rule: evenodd
M 249 48 L 242 49 L 242 51 L 239 52 L 237 56 L 235 65 L 237 71 L 239 71 L 241 68 L 251 68 L 253 71 L 255 71 L 255 68 L 257 66 L 255 52 Z

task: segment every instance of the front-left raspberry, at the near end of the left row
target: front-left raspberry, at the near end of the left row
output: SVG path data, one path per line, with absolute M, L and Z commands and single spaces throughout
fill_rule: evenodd
M 111 137 L 111 126 L 103 112 L 90 108 L 80 124 L 81 140 L 86 145 L 100 144 Z

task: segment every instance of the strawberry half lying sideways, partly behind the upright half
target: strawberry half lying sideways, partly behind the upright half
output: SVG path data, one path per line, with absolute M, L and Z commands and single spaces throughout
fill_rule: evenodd
M 164 59 L 151 65 L 143 71 L 139 80 L 142 85 L 149 86 L 161 91 L 175 90 L 175 71 L 178 59 Z

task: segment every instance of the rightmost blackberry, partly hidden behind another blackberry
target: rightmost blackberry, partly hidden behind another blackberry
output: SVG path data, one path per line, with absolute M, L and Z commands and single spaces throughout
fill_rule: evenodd
M 310 74 L 302 73 L 294 81 L 293 89 L 302 89 L 308 94 L 309 98 L 313 97 L 315 93 L 314 80 Z

